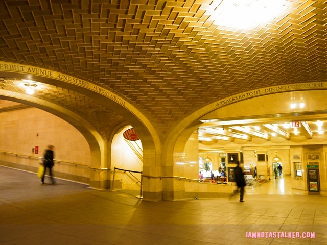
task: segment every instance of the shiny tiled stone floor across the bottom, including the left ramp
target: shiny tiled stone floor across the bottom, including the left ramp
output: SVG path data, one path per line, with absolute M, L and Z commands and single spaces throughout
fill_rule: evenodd
M 60 179 L 42 185 L 2 166 L 0 176 L 1 245 L 327 244 L 325 193 L 292 190 L 289 177 L 246 188 L 239 203 L 238 195 L 146 202 Z M 303 233 L 312 237 L 296 237 Z

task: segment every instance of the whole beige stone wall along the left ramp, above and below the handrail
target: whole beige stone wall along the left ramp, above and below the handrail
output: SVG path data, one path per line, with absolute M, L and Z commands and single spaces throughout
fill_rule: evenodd
M 0 104 L 1 108 L 13 105 L 16 103 L 2 101 Z M 3 165 L 35 172 L 49 144 L 55 146 L 55 159 L 59 160 L 55 162 L 55 176 L 88 183 L 90 149 L 86 139 L 77 129 L 61 118 L 37 108 L 0 113 L 0 150 L 26 155 L 2 153 L 0 161 Z M 38 154 L 35 152 L 35 146 L 39 147 Z

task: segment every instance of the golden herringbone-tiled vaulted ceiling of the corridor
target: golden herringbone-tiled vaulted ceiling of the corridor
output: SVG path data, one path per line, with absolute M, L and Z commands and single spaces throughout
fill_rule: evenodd
M 283 1 L 284 9 L 274 19 L 246 29 L 212 19 L 209 10 L 220 11 L 227 2 L 233 4 L 4 0 L 0 60 L 54 69 L 107 87 L 141 108 L 163 133 L 186 115 L 233 94 L 326 80 L 327 1 Z M 21 80 L 1 72 L 0 77 L 2 89 L 24 92 L 16 85 Z M 87 94 L 43 86 L 34 96 L 90 121 L 97 115 L 92 124 L 99 123 L 98 116 L 123 120 Z

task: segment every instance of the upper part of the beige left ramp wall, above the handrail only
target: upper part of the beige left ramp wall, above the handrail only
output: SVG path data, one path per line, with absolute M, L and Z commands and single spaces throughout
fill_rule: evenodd
M 0 150 L 42 157 L 49 144 L 55 146 L 55 159 L 90 164 L 87 141 L 61 118 L 36 108 L 0 113 Z

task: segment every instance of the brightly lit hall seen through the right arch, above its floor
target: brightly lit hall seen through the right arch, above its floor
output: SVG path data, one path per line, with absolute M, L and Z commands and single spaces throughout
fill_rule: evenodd
M 319 161 L 316 161 L 316 165 L 319 168 L 326 165 L 327 141 L 325 127 L 321 125 L 326 121 L 327 105 L 324 85 L 320 86 L 320 90 L 306 90 L 305 87 L 296 90 L 299 86 L 293 85 L 289 90 L 285 87 L 284 91 L 278 92 L 276 87 L 265 88 L 262 91 L 267 91 L 266 94 L 256 90 L 248 93 L 253 96 L 244 96 L 244 99 L 238 100 L 237 97 L 243 97 L 243 94 L 239 94 L 202 108 L 200 111 L 205 115 L 194 120 L 193 131 L 184 131 L 184 134 L 192 136 L 188 138 L 180 134 L 177 142 L 183 143 L 180 147 L 176 144 L 175 159 L 179 159 L 181 153 L 187 163 L 209 158 L 214 170 L 218 171 L 224 164 L 227 169 L 235 167 L 233 156 L 237 156 L 246 174 L 254 177 L 256 168 L 258 178 L 266 182 L 274 177 L 274 165 L 282 165 L 283 177 L 289 178 L 287 182 L 293 189 L 308 190 L 306 169 L 308 161 L 312 162 L 308 155 L 317 153 Z M 209 111 L 205 113 L 205 109 Z M 198 114 L 199 111 L 195 116 Z M 192 128 L 191 125 L 189 127 Z M 198 143 L 198 151 L 190 150 L 187 146 L 191 141 Z M 277 162 L 274 160 L 276 155 Z M 175 166 L 180 168 L 177 161 Z M 199 170 L 207 171 L 201 166 L 199 169 L 191 167 L 191 164 L 184 164 L 182 171 L 188 178 L 198 178 Z M 320 175 L 320 185 L 326 190 L 326 173 Z

